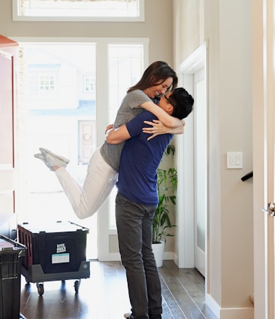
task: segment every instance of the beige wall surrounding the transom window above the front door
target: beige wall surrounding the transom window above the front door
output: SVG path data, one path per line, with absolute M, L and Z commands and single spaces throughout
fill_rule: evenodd
M 170 0 L 145 2 L 145 22 L 13 22 L 12 0 L 0 1 L 0 34 L 4 36 L 149 38 L 149 63 L 173 63 L 173 5 Z

